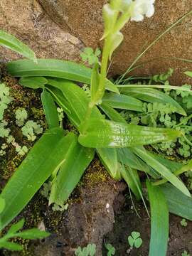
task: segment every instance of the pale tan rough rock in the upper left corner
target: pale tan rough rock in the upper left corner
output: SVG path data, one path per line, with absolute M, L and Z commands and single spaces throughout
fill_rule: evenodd
M 38 58 L 79 59 L 80 40 L 55 24 L 36 0 L 1 0 L 0 28 L 30 46 Z M 0 55 L 4 61 L 21 58 L 5 48 Z

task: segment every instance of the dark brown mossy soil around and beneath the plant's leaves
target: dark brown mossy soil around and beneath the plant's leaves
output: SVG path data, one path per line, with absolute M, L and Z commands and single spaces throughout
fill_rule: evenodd
M 12 90 L 18 93 L 15 107 L 20 106 L 22 102 L 22 104 L 28 105 L 28 110 L 30 110 L 30 102 L 33 102 L 33 107 L 36 108 L 36 111 L 33 111 L 33 117 L 38 116 L 43 120 L 39 95 L 35 95 L 30 90 L 23 90 L 17 81 L 10 77 L 3 77 L 3 79 Z M 7 112 L 6 117 L 7 119 L 12 118 L 11 110 Z M 12 121 L 11 125 L 14 125 Z M 0 188 L 4 187 L 16 166 L 22 161 L 21 158 L 17 159 L 14 156 L 12 149 L 9 153 L 6 161 L 1 162 Z M 26 219 L 24 228 L 41 227 L 51 233 L 50 237 L 35 241 L 17 239 L 16 241 L 23 245 L 22 252 L 1 250 L 0 255 L 72 256 L 75 255 L 75 249 L 78 246 L 84 247 L 89 243 L 95 243 L 97 245 L 96 256 L 105 256 L 107 255 L 105 243 L 111 243 L 116 249 L 115 255 L 117 256 L 147 256 L 149 254 L 150 220 L 142 203 L 134 202 L 140 218 L 137 216 L 126 188 L 124 182 L 112 180 L 100 161 L 95 159 L 70 196 L 67 210 L 64 212 L 53 211 L 51 207 L 48 207 L 47 199 L 43 198 L 41 192 L 38 191 L 21 215 L 14 220 L 16 222 L 24 217 Z M 169 256 L 180 256 L 184 250 L 192 253 L 192 223 L 188 222 L 188 225 L 183 227 L 180 221 L 181 218 L 170 215 L 167 254 Z M 127 243 L 127 236 L 132 231 L 141 233 L 143 239 L 142 247 L 137 250 L 131 250 Z

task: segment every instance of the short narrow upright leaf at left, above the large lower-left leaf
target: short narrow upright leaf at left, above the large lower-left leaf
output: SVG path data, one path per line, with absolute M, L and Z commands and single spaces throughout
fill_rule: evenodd
M 50 92 L 43 90 L 41 93 L 41 101 L 43 104 L 43 110 L 46 114 L 46 120 L 48 123 L 48 128 L 52 129 L 59 127 L 58 111 L 55 106 L 53 97 L 50 95 Z

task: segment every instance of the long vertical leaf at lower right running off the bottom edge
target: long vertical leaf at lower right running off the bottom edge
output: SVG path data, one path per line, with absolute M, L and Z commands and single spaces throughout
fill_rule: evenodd
M 151 208 L 151 240 L 149 256 L 166 256 L 169 239 L 169 210 L 161 188 L 146 180 Z

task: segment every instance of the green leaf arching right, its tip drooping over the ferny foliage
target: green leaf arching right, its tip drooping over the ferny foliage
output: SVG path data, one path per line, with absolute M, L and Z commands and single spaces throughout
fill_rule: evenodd
M 183 114 L 186 116 L 185 110 L 183 110 L 183 107 L 181 107 L 181 105 L 179 105 L 178 102 L 176 102 L 169 95 L 166 95 L 166 93 L 161 92 L 159 90 L 153 88 L 126 87 L 122 89 L 121 93 L 124 95 L 136 97 L 139 100 L 144 100 L 150 103 L 169 103 L 176 108 L 176 112 L 178 114 Z

